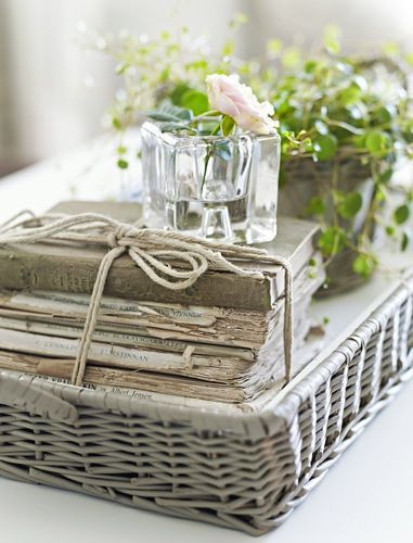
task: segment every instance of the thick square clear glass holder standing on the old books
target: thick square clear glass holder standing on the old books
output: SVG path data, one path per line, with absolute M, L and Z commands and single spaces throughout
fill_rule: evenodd
M 183 136 L 142 126 L 145 224 L 257 243 L 276 235 L 280 136 Z

